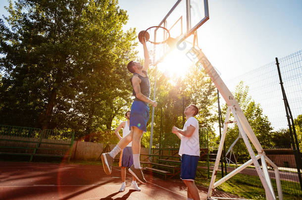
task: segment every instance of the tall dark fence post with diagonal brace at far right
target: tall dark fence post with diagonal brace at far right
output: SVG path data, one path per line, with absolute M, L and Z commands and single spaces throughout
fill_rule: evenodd
M 301 187 L 301 190 L 302 190 L 301 153 L 300 153 L 300 148 L 299 148 L 298 138 L 297 138 L 297 134 L 296 134 L 296 129 L 295 129 L 293 115 L 292 115 L 292 112 L 291 112 L 291 109 L 290 109 L 290 105 L 288 103 L 288 100 L 287 100 L 287 97 L 286 97 L 286 93 L 285 93 L 285 90 L 284 90 L 284 86 L 283 86 L 283 82 L 282 82 L 282 77 L 281 77 L 281 72 L 280 72 L 278 58 L 276 58 L 276 65 L 277 65 L 277 69 L 278 69 L 278 74 L 279 74 L 279 79 L 280 79 L 280 85 L 281 85 L 281 90 L 282 90 L 282 95 L 283 95 L 283 101 L 284 101 L 284 106 L 285 106 L 285 112 L 286 112 L 287 122 L 288 122 L 289 131 L 290 131 L 291 140 L 292 140 L 292 145 L 293 145 L 293 151 L 294 151 L 296 165 L 297 165 L 297 171 L 298 171 L 298 177 L 299 177 L 299 181 L 300 181 L 300 187 Z

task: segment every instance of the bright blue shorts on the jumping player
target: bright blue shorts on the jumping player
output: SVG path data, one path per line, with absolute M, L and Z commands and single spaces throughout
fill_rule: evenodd
M 136 126 L 144 132 L 147 132 L 147 121 L 149 120 L 149 106 L 142 101 L 134 101 L 130 112 L 130 126 Z

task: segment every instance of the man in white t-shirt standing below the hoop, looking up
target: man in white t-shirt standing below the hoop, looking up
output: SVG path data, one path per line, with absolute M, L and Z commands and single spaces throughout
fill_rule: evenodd
M 200 157 L 199 125 L 194 118 L 199 113 L 196 105 L 191 104 L 185 110 L 186 123 L 183 129 L 175 126 L 172 133 L 176 134 L 180 142 L 179 155 L 181 156 L 180 178 L 187 186 L 188 200 L 200 200 L 198 189 L 194 183 L 198 160 Z

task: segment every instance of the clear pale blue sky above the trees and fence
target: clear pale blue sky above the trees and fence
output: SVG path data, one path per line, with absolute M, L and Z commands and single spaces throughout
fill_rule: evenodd
M 124 29 L 158 25 L 177 0 L 119 0 Z M 7 15 L 0 0 L 0 13 Z M 208 0 L 199 45 L 224 80 L 302 49 L 302 0 Z M 142 54 L 141 45 L 138 47 Z

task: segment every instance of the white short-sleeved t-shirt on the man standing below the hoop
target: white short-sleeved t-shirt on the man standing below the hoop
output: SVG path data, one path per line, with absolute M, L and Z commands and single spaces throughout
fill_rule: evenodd
M 186 137 L 182 135 L 180 148 L 179 148 L 179 156 L 182 154 L 190 155 L 190 156 L 200 156 L 200 145 L 199 145 L 199 125 L 198 120 L 194 117 L 190 117 L 185 125 L 183 130 L 187 130 L 188 126 L 194 126 L 195 130 L 191 137 Z

